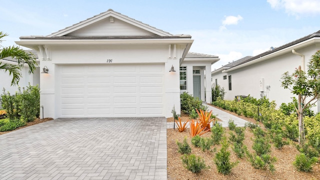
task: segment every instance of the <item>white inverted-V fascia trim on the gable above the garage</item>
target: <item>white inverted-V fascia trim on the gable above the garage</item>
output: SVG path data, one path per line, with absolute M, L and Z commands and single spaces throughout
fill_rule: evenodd
M 127 22 L 127 23 L 129 23 L 129 24 L 132 24 L 132 25 L 134 25 L 134 26 L 140 27 L 140 28 L 142 28 L 142 29 L 144 29 L 144 30 L 150 31 L 150 32 L 155 33 L 155 34 L 157 34 L 157 35 L 161 35 L 161 36 L 172 36 L 172 34 L 170 34 L 170 33 L 165 33 L 164 31 L 161 31 L 161 30 L 156 29 L 156 28 L 154 28 L 154 27 L 151 27 L 151 26 L 148 26 L 148 25 L 146 25 L 146 24 L 143 24 L 143 23 L 141 23 L 141 22 L 139 22 L 139 21 L 137 21 L 137 20 L 134 20 L 134 19 L 132 19 L 132 18 L 130 18 L 130 17 L 127 17 L 127 16 L 125 16 L 125 15 L 118 14 L 118 13 L 115 13 L 115 12 L 113 12 L 113 11 L 108 11 L 107 13 L 102 13 L 102 14 L 93 16 L 93 17 L 91 17 L 91 18 L 89 18 L 89 19 L 83 20 L 82 22 L 78 22 L 78 23 L 73 24 L 73 25 L 71 25 L 71 26 L 69 26 L 69 27 L 66 27 L 65 29 L 61 29 L 61 30 L 59 30 L 59 31 L 57 31 L 57 32 L 54 32 L 54 33 L 52 33 L 52 34 L 49 34 L 49 35 L 47 35 L 47 37 L 63 36 L 63 35 L 65 35 L 65 34 L 68 34 L 68 33 L 70 33 L 70 32 L 73 32 L 73 31 L 75 31 L 75 30 L 78 30 L 78 29 L 80 29 L 80 28 L 82 28 L 82 27 L 85 27 L 85 26 L 87 26 L 87 25 L 90 25 L 90 24 L 92 24 L 92 23 L 94 23 L 94 22 L 97 22 L 97 21 L 102 20 L 102 19 L 104 19 L 104 18 L 107 18 L 107 17 L 109 17 L 109 16 L 113 16 L 113 17 L 115 17 L 115 18 L 117 18 L 117 19 L 120 19 L 120 20 L 122 20 L 122 21 L 124 21 L 124 22 Z

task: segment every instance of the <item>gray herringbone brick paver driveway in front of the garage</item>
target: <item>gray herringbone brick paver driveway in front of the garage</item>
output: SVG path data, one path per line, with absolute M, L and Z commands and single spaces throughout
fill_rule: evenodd
M 0 135 L 0 179 L 166 179 L 166 119 L 59 118 Z

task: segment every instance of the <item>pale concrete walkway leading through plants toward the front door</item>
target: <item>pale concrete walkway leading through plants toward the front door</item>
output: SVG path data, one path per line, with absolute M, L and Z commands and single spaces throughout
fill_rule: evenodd
M 228 126 L 228 121 L 229 119 L 232 119 L 234 121 L 234 123 L 239 126 L 239 127 L 243 127 L 244 124 L 248 121 L 237 117 L 235 115 L 232 115 L 230 113 L 224 112 L 223 110 L 220 110 L 218 108 L 215 108 L 211 105 L 207 105 L 205 103 L 202 103 L 203 105 L 206 105 L 208 107 L 208 110 L 212 110 L 212 114 L 214 114 L 217 118 L 219 118 L 222 121 L 219 121 L 219 123 L 222 124 L 223 127 L 227 127 Z M 211 124 L 212 125 L 212 124 Z M 166 123 L 166 127 L 167 128 L 173 128 L 173 122 L 167 122 Z

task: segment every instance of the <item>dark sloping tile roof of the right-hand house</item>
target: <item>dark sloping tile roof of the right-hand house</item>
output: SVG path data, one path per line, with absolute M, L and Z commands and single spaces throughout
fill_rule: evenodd
M 276 52 L 276 51 L 278 51 L 278 50 L 284 49 L 284 48 L 286 48 L 286 47 L 289 47 L 289 46 L 291 46 L 291 45 L 297 44 L 297 43 L 299 43 L 299 42 L 303 42 L 304 40 L 307 40 L 307 39 L 310 39 L 310 38 L 313 38 L 313 37 L 320 37 L 320 30 L 318 30 L 318 31 L 316 31 L 316 32 L 313 32 L 313 33 L 311 33 L 311 34 L 309 34 L 309 35 L 306 35 L 306 36 L 304 36 L 304 37 L 301 37 L 301 38 L 299 38 L 299 39 L 296 39 L 296 40 L 294 40 L 294 41 L 291 41 L 291 42 L 289 42 L 289 43 L 286 43 L 286 44 L 284 44 L 284 45 L 281 45 L 281 46 L 279 46 L 279 47 L 275 47 L 275 48 L 273 48 L 273 49 L 271 49 L 271 50 L 262 52 L 262 53 L 260 53 L 260 54 L 258 54 L 258 55 L 255 55 L 255 56 L 253 56 L 253 57 L 251 57 L 251 58 L 249 58 L 249 59 L 247 59 L 247 60 L 242 61 L 241 63 L 238 63 L 237 65 L 240 65 L 240 64 L 249 62 L 249 61 L 251 61 L 251 60 L 254 60 L 254 59 L 257 59 L 257 58 L 259 58 L 259 57 L 265 56 L 265 55 L 267 55 L 267 54 Z M 236 66 L 236 65 L 235 65 L 235 66 Z

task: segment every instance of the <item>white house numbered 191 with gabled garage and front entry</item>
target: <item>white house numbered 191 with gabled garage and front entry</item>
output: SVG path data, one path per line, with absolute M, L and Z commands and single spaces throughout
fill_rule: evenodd
M 199 70 L 200 97 L 205 93 L 210 102 L 204 70 L 210 77 L 218 58 L 188 54 L 192 42 L 190 35 L 172 35 L 112 9 L 16 41 L 36 50 L 40 68 L 48 69 L 40 74 L 40 105 L 53 118 L 172 116 L 173 105 L 180 109 L 180 66 L 187 71 L 184 90 L 194 91 Z

